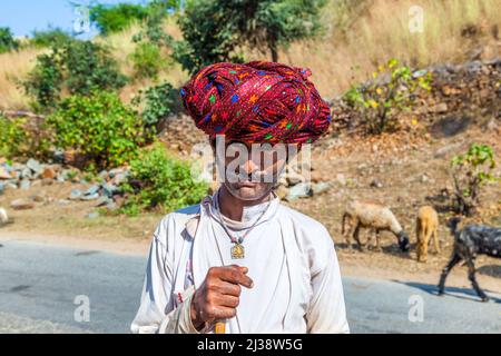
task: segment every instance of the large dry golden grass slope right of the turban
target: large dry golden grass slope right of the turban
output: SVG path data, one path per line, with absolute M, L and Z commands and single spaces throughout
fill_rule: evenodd
M 326 20 L 341 18 L 341 28 L 328 26 L 323 38 L 294 43 L 281 53 L 282 61 L 310 67 L 314 82 L 327 98 L 366 80 L 391 58 L 421 67 L 469 60 L 482 47 L 483 58 L 501 55 L 499 0 L 372 0 L 369 7 L 357 9 L 357 19 L 352 22 L 340 14 L 333 17 L 340 1 L 330 2 Z M 424 14 L 421 33 L 409 30 L 409 10 L 415 4 Z M 466 28 L 475 31 L 471 38 L 462 36 Z

